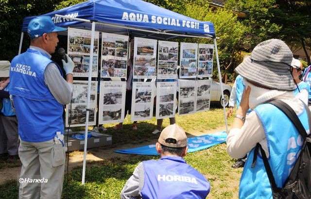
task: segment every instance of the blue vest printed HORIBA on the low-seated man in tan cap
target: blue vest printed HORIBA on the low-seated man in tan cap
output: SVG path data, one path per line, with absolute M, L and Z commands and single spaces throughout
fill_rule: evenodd
M 182 157 L 164 156 L 143 162 L 142 199 L 205 199 L 209 182 Z

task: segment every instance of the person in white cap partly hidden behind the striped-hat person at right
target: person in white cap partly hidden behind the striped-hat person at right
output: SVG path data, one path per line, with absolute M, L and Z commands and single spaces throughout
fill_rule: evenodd
M 297 99 L 301 99 L 305 104 L 308 104 L 309 93 L 311 93 L 310 84 L 300 80 L 300 75 L 302 74 L 302 64 L 298 59 L 293 58 L 292 61 L 292 75 L 297 88 L 294 90 L 294 95 Z

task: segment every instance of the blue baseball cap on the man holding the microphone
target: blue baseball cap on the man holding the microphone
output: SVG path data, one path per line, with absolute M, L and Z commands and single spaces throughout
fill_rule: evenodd
M 55 26 L 50 16 L 33 18 L 28 24 L 27 33 L 33 39 L 42 36 L 44 33 L 66 31 L 67 28 Z

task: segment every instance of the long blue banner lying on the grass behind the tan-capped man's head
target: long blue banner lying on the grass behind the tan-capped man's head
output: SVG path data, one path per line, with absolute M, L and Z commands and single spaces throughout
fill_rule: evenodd
M 217 144 L 225 143 L 226 138 L 227 133 L 225 133 L 225 131 L 196 137 L 190 137 L 188 138 L 188 148 L 189 148 L 188 152 L 207 149 Z M 120 149 L 115 150 L 114 152 L 124 154 L 137 154 L 137 155 L 158 155 L 158 153 L 155 150 L 155 145 L 148 145 L 131 149 Z

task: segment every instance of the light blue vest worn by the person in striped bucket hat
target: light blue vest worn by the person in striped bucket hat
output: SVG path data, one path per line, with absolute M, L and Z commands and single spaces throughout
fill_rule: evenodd
M 272 104 L 261 104 L 255 108 L 263 125 L 269 149 L 271 166 L 276 185 L 283 187 L 303 145 L 303 139 L 288 117 Z M 306 110 L 299 116 L 309 131 Z M 242 172 L 239 196 L 241 199 L 272 199 L 270 182 L 260 155 L 252 168 L 254 149 L 248 156 Z

